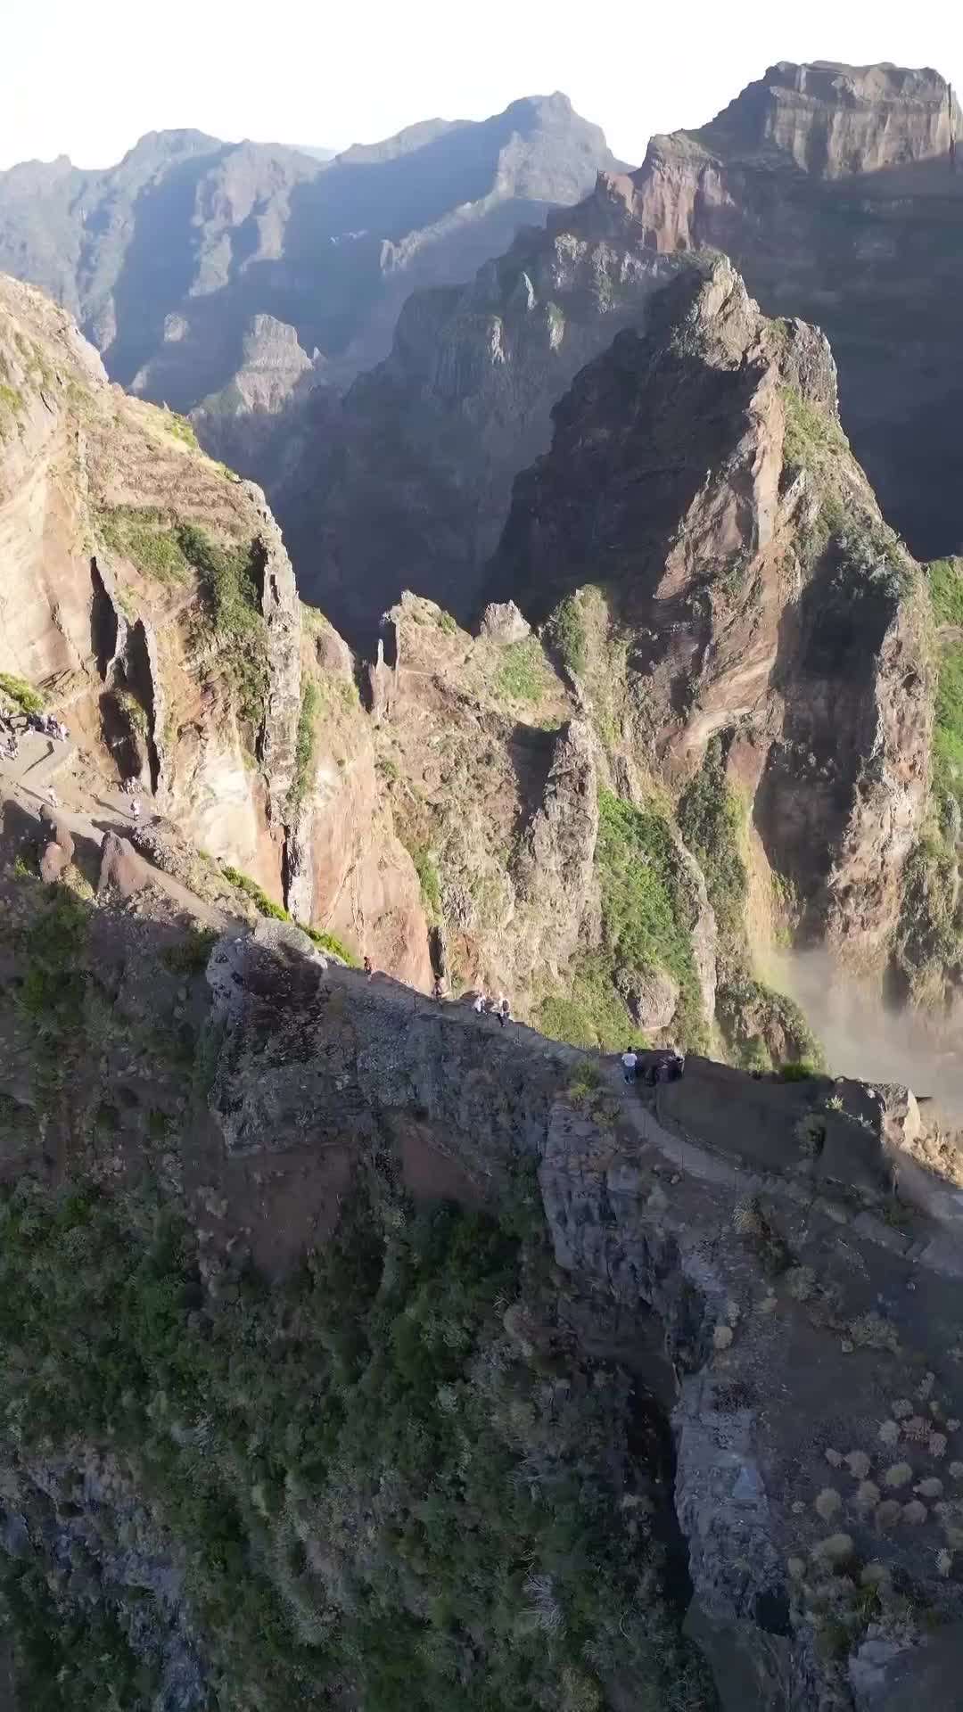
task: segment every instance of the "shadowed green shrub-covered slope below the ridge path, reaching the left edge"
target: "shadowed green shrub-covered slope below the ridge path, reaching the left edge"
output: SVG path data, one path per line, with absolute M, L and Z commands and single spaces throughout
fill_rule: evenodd
M 115 928 L 62 887 L 7 904 L 0 1029 L 31 1097 L 0 1101 L 24 1154 L 0 1197 L 19 1707 L 709 1709 L 667 1596 L 667 1471 L 627 1375 L 572 1342 L 528 1169 L 493 1212 L 425 1207 L 358 1144 L 324 1251 L 267 1284 L 178 1186 L 221 1044 L 209 936 L 141 936 L 151 1003 L 120 1008 Z M 33 1181 L 38 1121 L 70 1135 L 58 1190 Z

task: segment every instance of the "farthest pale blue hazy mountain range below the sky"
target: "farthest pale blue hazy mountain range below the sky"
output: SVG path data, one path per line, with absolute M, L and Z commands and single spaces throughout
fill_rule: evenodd
M 350 378 L 418 284 L 464 279 L 613 158 L 564 94 L 324 149 L 151 132 L 106 171 L 0 173 L 0 270 L 81 322 L 113 380 L 188 411 L 245 361 L 254 317 Z

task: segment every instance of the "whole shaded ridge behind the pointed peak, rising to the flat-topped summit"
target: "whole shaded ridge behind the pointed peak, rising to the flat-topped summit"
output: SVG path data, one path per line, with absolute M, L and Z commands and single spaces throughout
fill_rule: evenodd
M 620 327 L 644 330 L 653 289 L 701 247 L 732 257 L 766 313 L 824 329 L 886 517 L 920 558 L 956 550 L 951 132 L 936 72 L 778 65 L 703 130 L 655 137 L 637 173 L 600 175 L 473 284 L 413 296 L 391 358 L 339 409 L 300 401 L 257 449 L 305 591 L 358 640 L 403 587 L 470 613 L 552 406 Z

